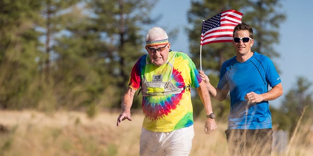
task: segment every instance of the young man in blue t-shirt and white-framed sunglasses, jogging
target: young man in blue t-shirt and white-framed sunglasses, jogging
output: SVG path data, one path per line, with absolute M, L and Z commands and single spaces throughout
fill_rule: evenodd
M 251 52 L 253 43 L 252 28 L 246 23 L 238 24 L 232 41 L 236 56 L 223 63 L 217 88 L 200 72 L 213 98 L 222 101 L 230 92 L 225 133 L 231 156 L 270 156 L 273 131 L 268 101 L 283 94 L 273 62 Z

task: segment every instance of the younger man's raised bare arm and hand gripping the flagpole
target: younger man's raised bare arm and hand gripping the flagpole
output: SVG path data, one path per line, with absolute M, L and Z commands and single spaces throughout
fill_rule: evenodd
M 206 88 L 209 91 L 210 95 L 219 101 L 223 101 L 226 98 L 229 90 L 220 90 L 219 88 L 215 88 L 210 83 L 210 79 L 207 77 L 207 75 L 204 74 L 203 71 L 200 71 L 199 74 L 202 80 L 204 81 Z

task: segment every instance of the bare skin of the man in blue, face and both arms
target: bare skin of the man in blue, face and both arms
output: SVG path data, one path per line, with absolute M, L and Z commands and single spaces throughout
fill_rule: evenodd
M 244 37 L 249 37 L 249 31 L 248 30 L 239 30 L 234 33 L 234 37 L 239 37 L 239 38 L 244 38 Z M 251 52 L 251 47 L 254 43 L 254 40 L 250 40 L 246 43 L 243 41 L 240 41 L 239 43 L 236 43 L 232 41 L 232 44 L 236 50 L 236 59 L 239 62 L 245 62 L 248 60 L 252 55 L 253 52 Z M 219 101 L 223 101 L 229 90 L 220 90 L 219 88 L 215 88 L 211 83 L 209 78 L 204 74 L 203 71 L 200 71 L 200 76 L 202 80 L 205 82 L 206 87 L 211 94 L 211 96 Z M 254 92 L 247 93 L 245 95 L 245 99 L 250 102 L 261 102 L 261 101 L 269 101 L 269 100 L 274 100 L 278 97 L 283 95 L 283 87 L 282 84 L 279 83 L 275 86 L 273 86 L 267 93 L 264 94 L 257 94 Z

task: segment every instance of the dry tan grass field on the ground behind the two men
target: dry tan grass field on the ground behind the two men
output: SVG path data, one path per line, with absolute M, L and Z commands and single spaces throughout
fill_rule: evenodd
M 116 127 L 118 115 L 119 112 L 106 110 L 90 119 L 81 112 L 58 111 L 47 115 L 29 110 L 0 111 L 0 125 L 4 126 L 0 131 L 0 156 L 138 156 L 143 115 L 133 113 L 133 121 L 123 121 Z M 190 156 L 228 156 L 226 124 L 218 126 L 215 132 L 205 135 L 204 119 L 195 121 Z M 310 125 L 307 127 L 310 131 Z M 312 142 L 302 144 L 295 139 L 288 154 L 273 156 L 312 153 Z

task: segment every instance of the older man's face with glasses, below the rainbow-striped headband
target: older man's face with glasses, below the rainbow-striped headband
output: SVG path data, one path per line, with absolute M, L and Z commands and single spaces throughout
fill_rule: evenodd
M 146 46 L 151 62 L 156 66 L 164 64 L 167 60 L 170 47 L 171 43 L 157 46 Z

